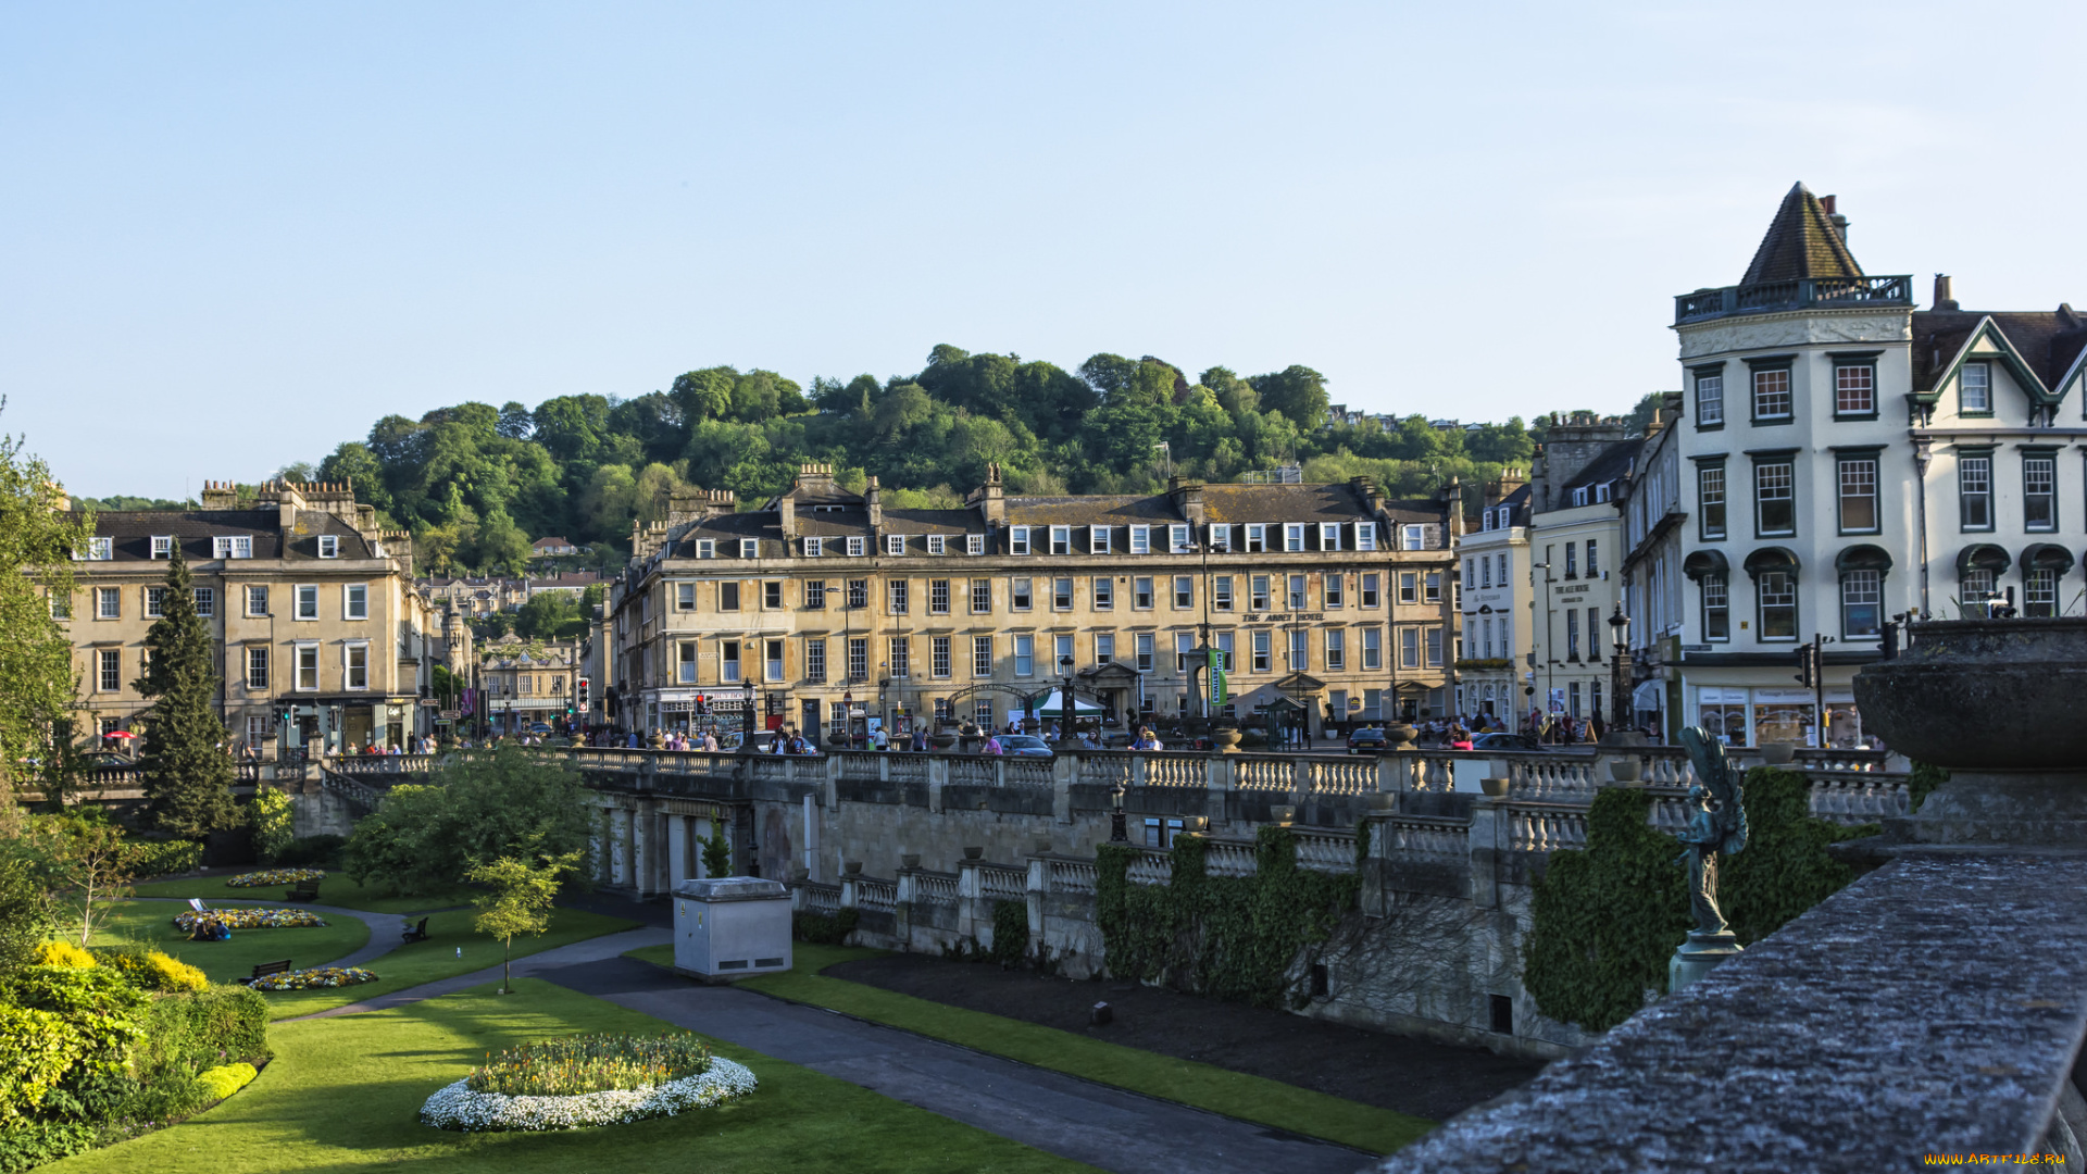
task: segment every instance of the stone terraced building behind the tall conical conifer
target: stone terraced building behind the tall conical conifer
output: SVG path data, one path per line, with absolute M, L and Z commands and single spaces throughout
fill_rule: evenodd
M 129 729 L 148 708 L 134 681 L 175 547 L 217 645 L 219 712 L 236 744 L 278 746 L 286 712 L 301 746 L 321 733 L 332 748 L 394 746 L 426 731 L 434 650 L 413 539 L 378 529 L 346 483 L 269 483 L 253 499 L 207 483 L 200 510 L 94 514 L 67 627 L 96 733 Z

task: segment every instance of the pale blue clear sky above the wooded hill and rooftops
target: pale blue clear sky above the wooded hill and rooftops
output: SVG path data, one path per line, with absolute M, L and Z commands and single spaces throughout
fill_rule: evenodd
M 1680 386 L 1793 182 L 1872 274 L 2087 305 L 2087 4 L 0 0 L 0 430 L 184 497 L 730 363 Z

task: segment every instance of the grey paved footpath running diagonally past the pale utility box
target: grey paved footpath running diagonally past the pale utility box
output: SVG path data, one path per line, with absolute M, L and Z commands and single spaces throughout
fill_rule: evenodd
M 703 986 L 666 967 L 622 957 L 624 950 L 670 940 L 670 930 L 659 925 L 605 934 L 515 959 L 513 973 L 555 982 L 1114 1174 L 1352 1174 L 1371 1159 L 1342 1145 L 1094 1084 L 818 1007 L 737 986 Z M 501 967 L 488 967 L 301 1017 L 380 1011 L 499 978 Z

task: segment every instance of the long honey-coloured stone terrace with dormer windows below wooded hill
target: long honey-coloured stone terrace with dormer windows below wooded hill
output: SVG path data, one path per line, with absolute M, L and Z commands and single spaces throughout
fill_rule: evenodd
M 993 468 L 960 510 L 885 508 L 872 478 L 803 466 L 741 512 L 672 503 L 634 535 L 609 595 L 614 721 L 835 733 L 868 719 L 1000 725 L 1066 679 L 1125 725 L 1210 717 L 1313 733 L 1450 704 L 1455 541 L 1446 501 L 1346 485 L 1202 485 L 1158 495 L 1008 495 Z

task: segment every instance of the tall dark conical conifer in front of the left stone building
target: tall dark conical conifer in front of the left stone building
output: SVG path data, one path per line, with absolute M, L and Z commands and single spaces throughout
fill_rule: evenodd
M 152 623 L 144 645 L 146 671 L 131 687 L 152 698 L 138 765 L 154 827 L 184 840 L 236 827 L 232 756 L 225 752 L 225 723 L 215 708 L 215 643 L 211 629 L 196 616 L 196 591 L 188 581 L 182 543 L 173 543 L 161 618 Z

